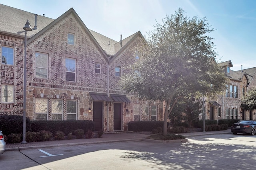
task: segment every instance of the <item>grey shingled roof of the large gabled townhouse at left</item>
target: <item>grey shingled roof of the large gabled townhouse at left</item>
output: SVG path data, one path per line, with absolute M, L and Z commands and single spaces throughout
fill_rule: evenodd
M 17 37 L 24 37 L 24 25 L 26 23 L 27 20 L 30 21 L 30 25 L 32 28 L 34 28 L 35 26 L 35 14 L 30 13 L 30 12 L 26 12 L 23 10 L 19 10 L 17 8 L 12 8 L 10 6 L 6 6 L 3 4 L 0 4 L 0 33 L 4 33 L 4 34 L 9 34 L 9 35 L 14 35 Z M 68 10 L 65 14 L 68 14 L 69 12 L 74 12 L 75 15 L 76 12 L 74 11 L 73 8 L 71 8 L 70 10 Z M 27 31 L 27 37 L 31 40 L 34 39 L 36 36 L 34 35 L 38 35 L 37 33 L 42 33 L 43 29 L 47 29 L 47 27 L 49 27 L 50 25 L 53 25 L 54 22 L 58 21 L 60 18 L 63 17 L 60 16 L 59 18 L 52 19 L 52 18 L 48 18 L 45 16 L 40 16 L 37 15 L 37 20 L 36 20 L 36 26 L 37 29 L 34 29 L 33 31 Z M 77 16 L 79 18 L 79 16 Z M 80 20 L 80 18 L 79 18 Z M 82 22 L 82 20 L 81 20 Z M 52 24 L 51 24 L 52 23 Z M 84 23 L 82 22 L 82 25 L 84 25 Z M 86 27 L 84 25 L 84 27 Z M 86 27 L 87 29 L 87 27 Z M 122 51 L 122 49 L 124 49 L 124 47 L 129 44 L 132 41 L 132 38 L 134 38 L 136 35 L 139 35 L 142 37 L 140 31 L 138 31 L 137 33 L 134 33 L 133 35 L 130 35 L 129 37 L 122 39 L 122 46 L 120 45 L 120 41 L 114 41 L 113 39 L 110 39 L 104 35 L 101 35 L 100 33 L 97 33 L 93 30 L 88 29 L 88 31 L 90 32 L 89 34 L 91 34 L 91 36 L 93 37 L 94 40 L 97 41 L 98 45 L 103 49 L 103 51 L 106 53 L 106 55 L 110 55 L 110 56 L 114 56 L 116 55 L 118 52 Z M 39 34 L 40 34 L 39 33 Z M 29 43 L 29 41 L 28 41 Z

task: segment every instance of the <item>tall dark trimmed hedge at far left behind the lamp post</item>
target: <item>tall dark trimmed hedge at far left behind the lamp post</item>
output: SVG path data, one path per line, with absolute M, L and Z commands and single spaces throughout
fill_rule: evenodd
M 0 130 L 8 136 L 12 133 L 23 133 L 23 116 L 1 115 Z M 30 131 L 30 119 L 26 117 L 26 131 Z

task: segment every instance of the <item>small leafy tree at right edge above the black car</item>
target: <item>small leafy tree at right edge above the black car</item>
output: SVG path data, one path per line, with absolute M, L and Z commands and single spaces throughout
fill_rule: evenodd
M 241 98 L 241 107 L 246 110 L 256 109 L 256 89 L 249 90 L 246 95 Z

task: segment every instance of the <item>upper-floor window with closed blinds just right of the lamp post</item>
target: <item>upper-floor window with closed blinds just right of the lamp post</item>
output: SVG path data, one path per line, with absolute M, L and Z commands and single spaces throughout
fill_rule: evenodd
M 48 54 L 36 52 L 36 77 L 48 78 Z

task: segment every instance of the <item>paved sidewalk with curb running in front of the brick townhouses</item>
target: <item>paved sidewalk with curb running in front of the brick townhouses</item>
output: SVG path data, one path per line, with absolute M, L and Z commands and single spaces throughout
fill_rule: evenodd
M 214 135 L 214 134 L 225 134 L 231 133 L 230 129 L 225 131 L 210 131 L 210 132 L 193 132 L 193 133 L 181 133 L 185 137 L 201 136 L 201 135 Z M 90 145 L 97 143 L 113 143 L 113 142 L 126 142 L 126 141 L 150 141 L 154 143 L 164 143 L 166 141 L 156 141 L 151 139 L 146 139 L 149 133 L 136 133 L 136 132 L 124 132 L 124 133 L 104 133 L 100 138 L 92 139 L 72 139 L 72 140 L 61 140 L 61 141 L 45 141 L 45 142 L 31 142 L 26 144 L 15 143 L 6 144 L 5 151 L 11 150 L 21 150 L 21 149 L 32 149 L 32 148 L 45 148 L 45 147 L 62 147 L 62 146 L 72 146 L 72 145 Z M 173 140 L 167 142 L 186 142 L 184 140 Z

